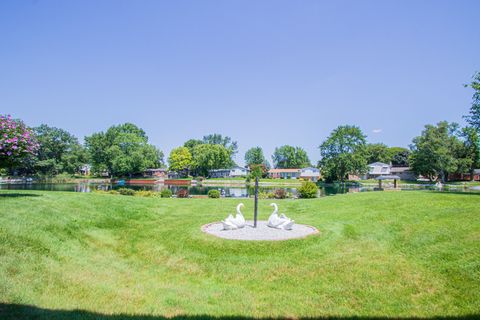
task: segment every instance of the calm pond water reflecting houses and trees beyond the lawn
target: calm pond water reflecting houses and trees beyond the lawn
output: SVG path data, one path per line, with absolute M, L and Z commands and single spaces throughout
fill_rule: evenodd
M 134 190 L 151 190 L 161 191 L 168 188 L 175 194 L 179 189 L 188 189 L 190 195 L 207 195 L 209 190 L 219 190 L 224 197 L 244 198 L 254 194 L 253 187 L 247 186 L 173 186 L 173 185 L 112 185 L 112 184 L 96 184 L 96 183 L 25 183 L 25 184 L 0 184 L 0 190 L 48 190 L 48 191 L 71 191 L 71 192 L 92 192 L 98 190 L 115 190 L 119 188 L 131 188 Z M 277 189 L 284 189 L 285 191 L 296 195 L 297 189 L 292 187 L 259 187 L 259 192 L 275 192 Z M 465 188 L 463 186 L 447 187 L 439 190 L 432 185 L 406 185 L 402 186 L 402 190 L 436 190 L 445 192 L 480 192 L 478 188 Z M 329 185 L 321 186 L 319 188 L 319 196 L 329 196 L 334 194 L 349 193 L 349 192 L 363 192 L 372 191 L 373 186 L 343 186 L 343 185 Z

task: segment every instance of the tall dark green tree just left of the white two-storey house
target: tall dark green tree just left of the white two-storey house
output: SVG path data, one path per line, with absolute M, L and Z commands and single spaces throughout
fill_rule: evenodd
M 320 145 L 320 166 L 327 181 L 345 181 L 367 171 L 366 136 L 356 126 L 339 126 Z

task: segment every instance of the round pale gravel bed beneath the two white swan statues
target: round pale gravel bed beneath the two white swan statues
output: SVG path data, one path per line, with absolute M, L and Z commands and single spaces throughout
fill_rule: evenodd
M 230 240 L 266 240 L 278 241 L 306 236 L 318 233 L 317 228 L 305 224 L 295 224 L 292 230 L 280 230 L 267 226 L 267 221 L 257 221 L 257 228 L 253 227 L 253 221 L 248 220 L 244 228 L 237 230 L 223 230 L 221 222 L 212 222 L 202 226 L 202 231 L 218 238 Z

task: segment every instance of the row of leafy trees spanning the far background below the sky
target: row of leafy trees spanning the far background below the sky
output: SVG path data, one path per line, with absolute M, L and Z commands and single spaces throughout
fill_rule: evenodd
M 470 173 L 480 167 L 480 73 L 468 85 L 474 93 L 467 126 L 446 121 L 426 125 L 412 140 L 409 149 L 388 147 L 382 143 L 369 144 L 357 126 L 342 125 L 334 129 L 319 146 L 321 169 L 325 181 L 345 181 L 350 174 L 367 172 L 372 162 L 410 166 L 430 179 L 445 181 L 451 173 Z M 168 168 L 181 176 L 207 176 L 211 169 L 235 166 L 238 143 L 221 134 L 187 140 L 168 156 Z M 312 166 L 306 151 L 298 146 L 275 148 L 272 164 L 261 147 L 250 148 L 244 155 L 246 166 L 254 176 L 266 176 L 274 168 Z M 64 129 L 42 124 L 28 128 L 21 120 L 0 117 L 0 169 L 4 173 L 53 176 L 60 173 L 77 174 L 89 164 L 98 175 L 131 177 L 148 168 L 165 167 L 164 154 L 149 143 L 145 131 L 135 124 L 114 125 L 79 140 Z

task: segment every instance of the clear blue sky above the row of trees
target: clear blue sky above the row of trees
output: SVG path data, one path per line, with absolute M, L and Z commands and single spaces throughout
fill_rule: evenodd
M 318 145 L 340 124 L 408 146 L 463 124 L 480 1 L 0 2 L 0 113 L 83 139 L 133 122 L 166 155 L 229 135 Z

